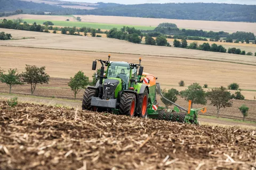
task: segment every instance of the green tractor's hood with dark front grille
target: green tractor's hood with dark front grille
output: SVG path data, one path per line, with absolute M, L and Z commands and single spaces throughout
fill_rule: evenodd
M 122 80 L 118 78 L 105 79 L 103 82 L 103 99 L 115 99 L 122 90 Z

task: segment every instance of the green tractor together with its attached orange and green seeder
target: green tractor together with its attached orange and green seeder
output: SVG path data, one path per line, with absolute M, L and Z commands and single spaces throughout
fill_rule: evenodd
M 154 75 L 143 73 L 141 58 L 139 64 L 110 62 L 109 59 L 110 55 L 107 61 L 93 61 L 92 70 L 96 70 L 97 61 L 101 63 L 99 80 L 95 86 L 85 89 L 83 110 L 198 124 L 197 112 L 200 109 L 189 108 L 188 111 L 166 98 L 175 105 L 174 109 L 158 107 L 156 94 L 163 97 L 160 84 Z

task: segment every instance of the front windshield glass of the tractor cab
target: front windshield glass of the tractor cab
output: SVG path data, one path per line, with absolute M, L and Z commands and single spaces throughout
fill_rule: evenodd
M 113 62 L 108 67 L 108 78 L 120 78 L 125 83 L 126 89 L 129 86 L 130 64 L 123 62 Z

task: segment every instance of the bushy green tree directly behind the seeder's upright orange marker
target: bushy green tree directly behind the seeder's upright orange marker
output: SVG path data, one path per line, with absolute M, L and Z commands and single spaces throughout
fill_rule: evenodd
M 191 84 L 188 86 L 188 89 L 181 91 L 180 95 L 182 98 L 185 98 L 186 101 L 191 100 L 192 104 L 206 105 L 207 103 L 205 91 L 198 83 Z

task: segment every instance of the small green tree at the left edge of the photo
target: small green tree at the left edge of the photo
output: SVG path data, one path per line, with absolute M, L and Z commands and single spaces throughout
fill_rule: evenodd
M 21 85 L 21 75 L 18 73 L 17 69 L 9 69 L 8 73 L 0 72 L 0 81 L 6 83 L 9 87 L 9 93 L 14 85 Z

